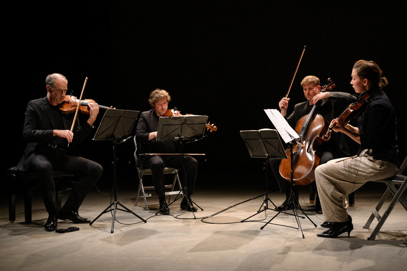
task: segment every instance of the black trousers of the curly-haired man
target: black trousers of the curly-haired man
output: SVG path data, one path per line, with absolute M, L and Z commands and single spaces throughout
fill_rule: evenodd
M 181 155 L 146 156 L 143 157 L 143 166 L 151 168 L 151 179 L 154 189 L 160 199 L 165 197 L 164 167 L 179 169 L 179 177 L 182 186 L 186 186 L 187 194 L 192 195 L 195 189 L 198 162 L 195 158 Z

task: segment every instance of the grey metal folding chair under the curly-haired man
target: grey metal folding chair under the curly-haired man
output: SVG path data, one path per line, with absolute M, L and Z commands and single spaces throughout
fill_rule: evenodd
M 136 143 L 136 137 L 134 136 L 134 146 L 136 148 L 135 152 L 134 152 L 134 159 L 136 161 L 136 165 L 137 165 L 137 143 Z M 140 196 L 140 192 L 141 195 L 144 199 L 144 205 L 146 206 L 146 210 L 149 209 L 149 206 L 147 204 L 147 198 L 152 198 L 152 197 L 157 197 L 157 194 L 155 193 L 155 189 L 154 186 L 144 186 L 143 185 L 143 176 L 145 175 L 151 175 L 151 169 L 150 168 L 138 168 L 136 166 L 137 169 L 137 174 L 138 174 L 138 179 L 139 179 L 139 185 L 138 185 L 138 189 L 137 189 L 137 194 L 136 194 L 136 203 L 135 205 L 137 206 L 138 203 L 138 198 Z M 182 195 L 182 186 L 181 186 L 181 182 L 180 182 L 180 177 L 178 175 L 179 170 L 175 169 L 175 168 L 170 168 L 170 167 L 164 167 L 164 174 L 174 174 L 174 178 L 172 180 L 172 184 L 170 185 L 165 185 L 165 196 L 168 196 L 168 202 L 171 199 L 171 195 L 178 195 L 181 193 Z M 176 184 L 178 184 L 179 190 L 174 190 Z

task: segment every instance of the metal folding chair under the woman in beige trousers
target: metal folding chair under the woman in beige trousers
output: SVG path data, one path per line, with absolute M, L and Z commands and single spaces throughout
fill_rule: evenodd
M 407 211 L 407 200 L 403 196 L 403 192 L 407 187 L 407 176 L 402 175 L 406 166 L 407 166 L 407 157 L 404 159 L 395 176 L 387 179 L 379 179 L 373 181 L 378 183 L 385 183 L 387 185 L 387 189 L 383 194 L 382 198 L 380 199 L 379 203 L 377 203 L 366 224 L 363 226 L 364 229 L 368 229 L 374 218 L 376 218 L 378 221 L 376 227 L 373 229 L 373 232 L 370 234 L 370 237 L 367 238 L 368 240 L 374 240 L 377 232 L 379 232 L 379 230 L 382 228 L 383 224 L 389 217 L 397 201 L 400 202 L 404 209 Z M 399 186 L 399 188 L 397 189 L 396 186 Z M 390 196 L 390 193 L 393 195 L 393 198 L 389 206 L 387 207 L 386 211 L 381 216 L 379 214 L 379 210 L 383 206 L 387 198 Z

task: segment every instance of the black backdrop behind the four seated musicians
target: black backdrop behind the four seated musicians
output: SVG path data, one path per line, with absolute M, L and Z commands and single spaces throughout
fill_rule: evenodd
M 88 77 L 83 98 L 100 105 L 148 110 L 149 93 L 159 87 L 172 97 L 169 108 L 208 115 L 218 131 L 190 146 L 207 154 L 199 164 L 202 187 L 213 184 L 217 170 L 263 174 L 262 161 L 249 157 L 239 131 L 273 128 L 263 109 L 277 108 L 285 96 L 304 46 L 288 111 L 304 101 L 304 76 L 316 75 L 321 84 L 331 77 L 336 91 L 353 94 L 353 63 L 374 60 L 390 81 L 385 92 L 398 116 L 403 159 L 405 15 L 400 9 L 392 2 L 360 1 L 12 4 L 4 10 L 10 19 L 3 40 L 3 169 L 16 165 L 23 153 L 27 102 L 44 97 L 46 75 L 57 72 L 67 76 L 78 97 Z M 133 182 L 132 141 L 117 150 L 119 179 Z M 110 183 L 111 143 L 86 141 L 82 151 L 103 165 L 100 182 Z

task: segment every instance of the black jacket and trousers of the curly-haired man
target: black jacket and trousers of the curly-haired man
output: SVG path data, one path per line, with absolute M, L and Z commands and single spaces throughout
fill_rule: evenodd
M 164 167 L 172 167 L 180 170 L 179 177 L 181 184 L 186 185 L 187 194 L 191 195 L 194 192 L 198 167 L 198 162 L 194 158 L 180 155 L 139 156 L 140 154 L 173 154 L 179 152 L 176 143 L 171 140 L 157 141 L 153 138 L 149 141 L 149 134 L 156 132 L 158 129 L 159 119 L 154 109 L 144 111 L 140 114 L 135 135 L 137 143 L 136 166 L 140 168 L 151 168 L 151 178 L 160 200 L 163 200 L 165 197 Z

